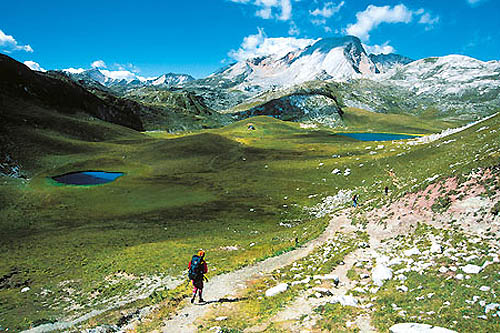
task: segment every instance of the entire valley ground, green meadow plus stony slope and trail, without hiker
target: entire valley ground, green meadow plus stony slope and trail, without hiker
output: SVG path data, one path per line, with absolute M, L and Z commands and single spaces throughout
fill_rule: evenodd
M 37 160 L 30 180 L 6 179 L 0 329 L 500 331 L 498 115 L 433 140 L 377 143 L 251 122 L 64 139 L 71 154 Z M 126 175 L 47 182 L 96 166 Z M 199 248 L 209 302 L 191 305 L 182 279 Z

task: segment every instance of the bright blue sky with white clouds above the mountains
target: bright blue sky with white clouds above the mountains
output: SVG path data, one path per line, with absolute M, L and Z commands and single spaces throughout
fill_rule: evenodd
M 0 52 L 44 69 L 94 63 L 204 77 L 235 59 L 348 33 L 414 59 L 500 60 L 498 0 L 23 0 L 1 8 Z

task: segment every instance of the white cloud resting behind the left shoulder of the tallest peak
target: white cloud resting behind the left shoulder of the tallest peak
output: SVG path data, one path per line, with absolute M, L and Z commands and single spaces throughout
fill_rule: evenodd
M 231 50 L 228 55 L 238 61 L 269 55 L 283 57 L 291 51 L 303 49 L 315 42 L 314 39 L 295 37 L 268 38 L 264 29 L 258 29 L 257 34 L 245 37 L 240 48 Z

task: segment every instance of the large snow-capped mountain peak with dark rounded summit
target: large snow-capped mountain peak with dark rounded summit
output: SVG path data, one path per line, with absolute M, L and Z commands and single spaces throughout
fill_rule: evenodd
M 354 36 L 325 38 L 282 58 L 265 56 L 230 65 L 208 77 L 233 81 L 237 88 L 262 91 L 290 87 L 311 80 L 345 81 L 379 73 L 375 63 Z

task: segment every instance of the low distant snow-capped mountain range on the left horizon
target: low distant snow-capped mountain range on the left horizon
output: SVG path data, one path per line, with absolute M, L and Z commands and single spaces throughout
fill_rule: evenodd
M 83 80 L 86 83 L 98 82 L 105 87 L 172 87 L 195 80 L 191 75 L 187 74 L 168 73 L 154 78 L 145 78 L 130 71 L 109 71 L 98 68 L 89 70 L 66 69 L 63 72 L 74 80 Z

